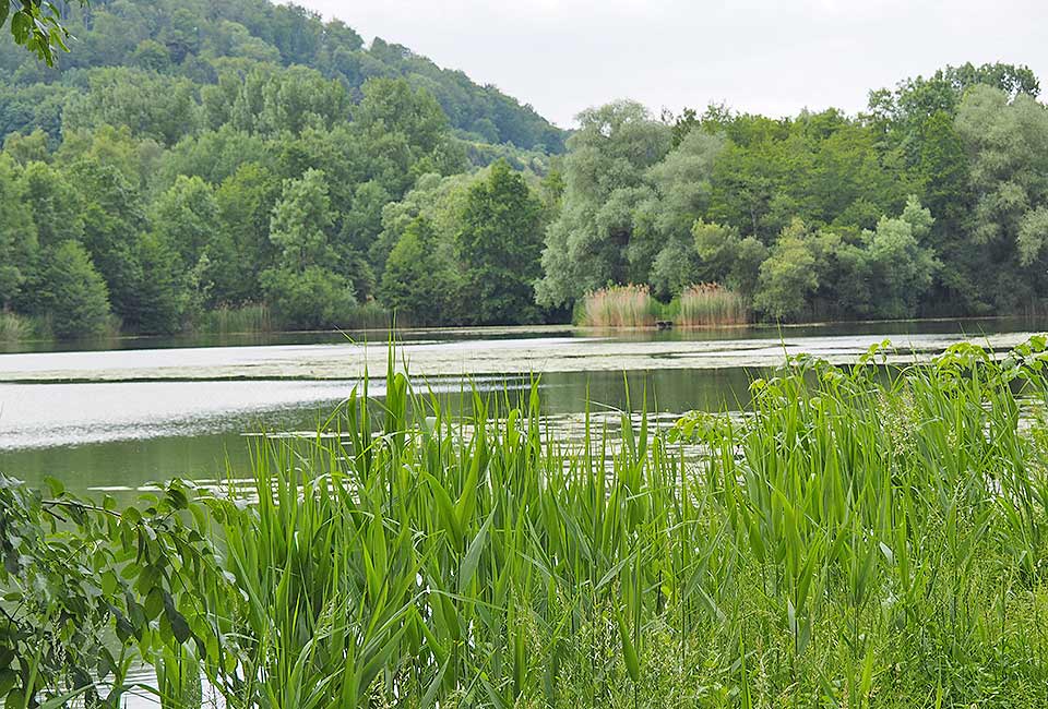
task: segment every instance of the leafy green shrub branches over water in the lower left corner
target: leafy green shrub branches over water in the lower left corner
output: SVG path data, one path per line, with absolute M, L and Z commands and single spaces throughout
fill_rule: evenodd
M 121 706 L 135 660 L 188 644 L 219 661 L 207 599 L 226 581 L 214 548 L 182 520 L 189 506 L 178 481 L 118 509 L 53 480 L 45 496 L 0 476 L 5 707 Z

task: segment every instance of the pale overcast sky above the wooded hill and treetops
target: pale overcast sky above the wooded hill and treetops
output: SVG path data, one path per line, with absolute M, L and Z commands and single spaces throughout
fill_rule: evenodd
M 837 106 L 943 64 L 1028 64 L 1048 93 L 1045 0 L 298 0 L 495 84 L 561 127 L 590 106 Z

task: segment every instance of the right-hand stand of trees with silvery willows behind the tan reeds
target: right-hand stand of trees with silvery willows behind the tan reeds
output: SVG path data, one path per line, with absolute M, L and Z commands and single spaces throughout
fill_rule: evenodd
M 1048 110 L 1026 68 L 943 69 L 868 110 L 580 116 L 538 302 L 718 283 L 765 320 L 1016 313 L 1048 271 Z

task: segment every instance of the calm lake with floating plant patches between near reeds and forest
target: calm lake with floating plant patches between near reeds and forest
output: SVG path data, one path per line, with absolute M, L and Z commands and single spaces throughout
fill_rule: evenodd
M 544 413 L 555 431 L 568 431 L 587 396 L 594 410 L 624 408 L 626 382 L 634 409 L 738 409 L 751 378 L 785 353 L 847 363 L 886 338 L 894 359 L 912 361 L 961 339 L 1007 350 L 1045 326 L 993 319 L 628 333 L 434 329 L 400 334 L 396 357 L 416 387 L 448 395 L 464 386 L 525 389 L 539 376 Z M 315 431 L 366 372 L 370 393 L 381 396 L 386 340 L 382 333 L 305 333 L 9 348 L 0 354 L 0 471 L 118 494 L 172 477 L 206 483 L 242 474 L 248 436 Z

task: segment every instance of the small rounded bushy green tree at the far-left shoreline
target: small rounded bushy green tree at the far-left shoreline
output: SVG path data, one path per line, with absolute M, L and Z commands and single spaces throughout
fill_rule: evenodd
M 48 250 L 37 308 L 57 337 L 88 337 L 108 327 L 106 281 L 79 242 L 67 240 Z

